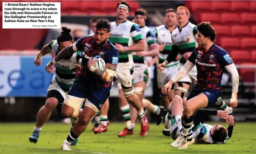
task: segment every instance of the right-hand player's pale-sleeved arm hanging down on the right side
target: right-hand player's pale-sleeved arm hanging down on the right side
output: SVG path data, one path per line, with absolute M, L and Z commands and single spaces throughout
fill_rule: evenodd
M 225 68 L 227 69 L 228 73 L 231 74 L 231 80 L 232 80 L 232 94 L 231 94 L 229 105 L 231 107 L 236 107 L 237 93 L 238 93 L 238 86 L 239 86 L 239 74 L 234 63 L 225 66 Z

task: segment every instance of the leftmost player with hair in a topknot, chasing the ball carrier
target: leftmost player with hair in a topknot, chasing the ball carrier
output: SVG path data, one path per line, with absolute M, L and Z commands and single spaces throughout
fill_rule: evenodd
M 66 48 L 68 45 L 72 45 L 72 36 L 70 34 L 71 30 L 62 27 L 62 32 L 58 36 L 57 40 L 51 41 L 49 44 L 45 45 L 42 50 L 38 53 L 34 60 L 35 65 L 40 66 L 42 63 L 42 57 L 51 51 L 54 53 L 55 57 Z M 32 135 L 29 137 L 30 142 L 37 143 L 39 134 L 41 133 L 42 126 L 50 118 L 52 110 L 60 103 L 62 104 L 67 92 L 71 88 L 71 85 L 76 79 L 76 75 L 72 73 L 76 72 L 73 69 L 73 65 L 81 63 L 81 53 L 73 53 L 72 55 L 63 57 L 61 61 L 56 63 L 55 76 L 50 82 L 50 86 L 46 96 L 46 103 L 38 111 L 36 126 L 34 127 Z M 71 118 L 71 129 L 76 123 L 76 119 Z M 72 145 L 76 145 L 78 138 Z

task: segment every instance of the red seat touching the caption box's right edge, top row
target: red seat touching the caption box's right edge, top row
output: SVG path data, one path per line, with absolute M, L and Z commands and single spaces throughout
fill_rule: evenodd
M 78 1 L 78 0 L 62 1 L 61 11 L 65 11 L 65 12 L 81 11 L 81 1 Z

